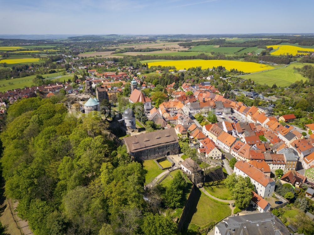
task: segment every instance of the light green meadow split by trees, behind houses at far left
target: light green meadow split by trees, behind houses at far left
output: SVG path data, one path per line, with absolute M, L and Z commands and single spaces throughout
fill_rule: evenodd
M 62 72 L 56 72 L 56 73 L 49 73 L 49 74 L 43 74 L 41 75 L 44 78 L 51 78 L 51 77 L 57 77 L 62 76 Z M 67 77 L 69 75 L 62 76 L 62 81 L 64 77 Z M 31 87 L 33 85 L 33 79 L 36 77 L 36 75 L 31 75 L 27 77 L 19 77 L 19 78 L 13 78 L 8 80 L 0 80 L 0 91 L 7 91 L 7 90 L 14 90 L 16 88 L 24 88 L 24 87 Z M 71 75 L 73 77 L 73 75 Z M 61 79 L 61 78 L 59 78 Z M 68 80 L 68 79 L 66 79 Z M 13 83 L 13 84 L 9 84 Z M 3 86 L 5 85 L 5 86 Z

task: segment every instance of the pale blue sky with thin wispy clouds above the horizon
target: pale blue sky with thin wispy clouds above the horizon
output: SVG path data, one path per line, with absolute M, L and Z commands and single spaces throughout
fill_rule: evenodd
M 313 33 L 313 0 L 0 0 L 0 34 Z

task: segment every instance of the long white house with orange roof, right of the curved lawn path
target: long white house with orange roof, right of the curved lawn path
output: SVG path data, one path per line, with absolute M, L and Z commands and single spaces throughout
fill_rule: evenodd
M 263 198 L 273 194 L 273 191 L 275 190 L 275 181 L 251 164 L 245 161 L 237 161 L 234 166 L 234 172 L 236 175 L 241 175 L 243 177 L 248 176 L 251 179 L 252 184 L 254 184 L 257 194 Z

